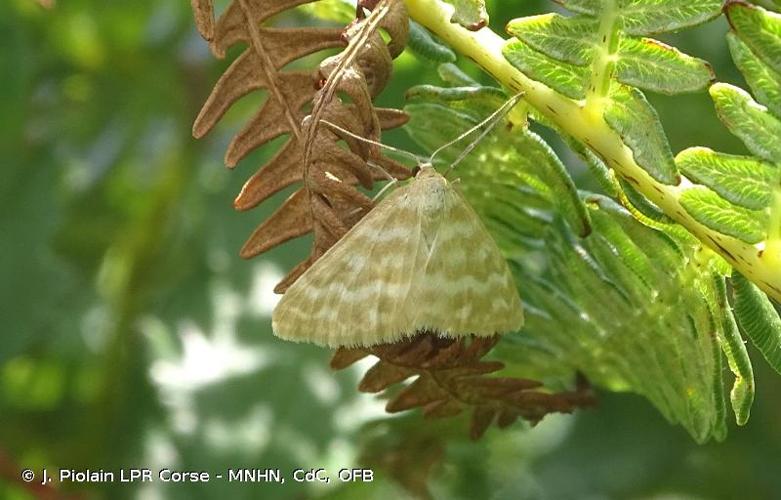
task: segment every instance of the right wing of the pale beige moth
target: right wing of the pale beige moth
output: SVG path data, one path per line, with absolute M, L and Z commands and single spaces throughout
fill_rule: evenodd
M 413 299 L 415 323 L 451 337 L 517 331 L 523 309 L 507 261 L 480 217 L 451 185 L 442 193 L 440 224 Z

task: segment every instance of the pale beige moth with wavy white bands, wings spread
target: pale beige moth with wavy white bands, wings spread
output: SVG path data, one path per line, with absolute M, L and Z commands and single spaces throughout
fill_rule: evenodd
M 368 347 L 421 331 L 492 336 L 522 326 L 506 260 L 431 161 L 304 272 L 272 314 L 278 337 L 328 347 Z

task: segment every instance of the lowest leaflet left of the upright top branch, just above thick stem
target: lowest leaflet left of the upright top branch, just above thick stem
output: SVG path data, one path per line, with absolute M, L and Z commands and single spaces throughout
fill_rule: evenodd
M 510 40 L 502 53 L 510 64 L 532 80 L 544 83 L 571 99 L 586 97 L 588 68 L 552 59 L 517 39 Z

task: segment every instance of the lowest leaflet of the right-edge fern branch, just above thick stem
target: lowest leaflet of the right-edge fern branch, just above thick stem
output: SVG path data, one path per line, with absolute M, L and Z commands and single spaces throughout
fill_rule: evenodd
M 767 212 L 733 205 L 708 188 L 687 189 L 681 205 L 699 223 L 746 243 L 759 243 L 767 235 Z

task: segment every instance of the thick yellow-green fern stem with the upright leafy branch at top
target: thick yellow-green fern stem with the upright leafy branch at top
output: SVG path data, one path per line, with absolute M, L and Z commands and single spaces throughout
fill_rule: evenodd
M 564 2 L 578 15 L 511 22 L 517 36 L 509 41 L 489 30 L 471 33 L 449 23 L 448 9 L 437 0 L 406 3 L 413 18 L 457 52 L 514 92 L 526 92 L 533 115 L 613 169 L 619 184 L 631 185 L 647 207 L 684 226 L 766 293 L 781 298 L 777 257 L 755 248 L 774 245 L 773 217 L 762 230 L 743 227 L 746 216 L 754 214 L 714 202 L 703 196 L 703 186 L 683 177 L 641 91 L 688 92 L 709 84 L 707 63 L 644 36 L 704 22 L 719 14 L 719 2 Z M 689 188 L 692 194 L 686 194 Z M 626 200 L 638 199 L 625 194 Z

